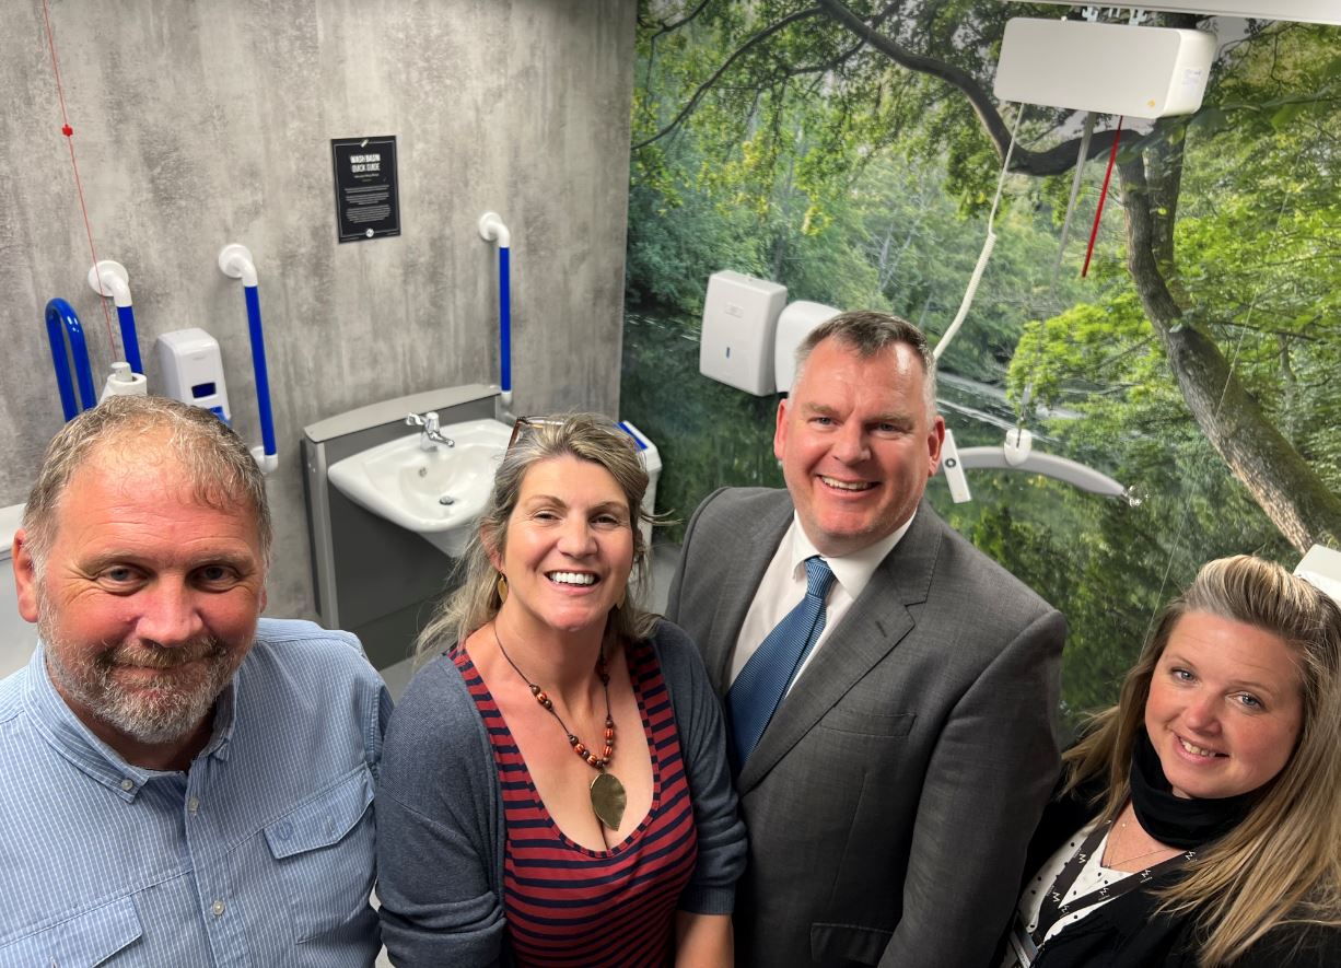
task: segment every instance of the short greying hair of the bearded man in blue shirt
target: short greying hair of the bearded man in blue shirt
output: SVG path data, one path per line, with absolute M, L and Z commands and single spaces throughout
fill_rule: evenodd
M 146 438 L 161 433 L 168 434 L 165 448 L 137 452 Z M 23 512 L 27 550 L 39 577 L 55 540 L 56 512 L 70 479 L 109 452 L 131 463 L 153 460 L 164 452 L 176 457 L 196 500 L 216 508 L 241 505 L 253 512 L 263 558 L 270 562 L 274 526 L 266 479 L 241 438 L 198 406 L 168 397 L 111 397 L 66 424 L 43 455 Z

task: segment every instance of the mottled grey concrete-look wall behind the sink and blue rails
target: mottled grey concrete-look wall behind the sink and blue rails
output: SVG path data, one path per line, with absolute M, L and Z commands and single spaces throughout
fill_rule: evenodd
M 260 441 L 240 283 L 260 274 L 280 469 L 271 607 L 312 609 L 300 429 L 439 386 L 496 382 L 498 210 L 512 231 L 518 413 L 618 405 L 636 0 L 51 0 L 99 259 L 154 337 L 220 342 L 235 426 Z M 113 359 L 40 3 L 0 0 L 0 504 L 62 413 L 42 326 L 63 296 Z M 337 244 L 330 139 L 397 137 L 394 239 Z M 109 304 L 110 310 L 110 304 Z M 119 330 L 111 311 L 119 353 Z

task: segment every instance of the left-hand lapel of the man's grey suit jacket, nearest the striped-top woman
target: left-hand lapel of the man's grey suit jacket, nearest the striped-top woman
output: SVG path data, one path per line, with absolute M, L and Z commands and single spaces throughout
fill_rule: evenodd
M 732 522 L 727 535 L 730 543 L 721 548 L 721 552 L 732 559 L 732 564 L 716 589 L 715 611 L 708 626 L 712 633 L 707 637 L 709 645 L 704 656 L 708 677 L 719 696 L 725 696 L 731 685 L 731 656 L 740 637 L 740 626 L 746 623 L 746 614 L 754 602 L 759 582 L 763 581 L 763 572 L 767 571 L 787 526 L 791 524 L 791 499 L 786 496 L 786 491 L 780 492 L 779 497 L 782 500 L 766 513 L 750 519 L 738 518 Z M 738 548 L 740 554 L 731 555 L 731 548 Z

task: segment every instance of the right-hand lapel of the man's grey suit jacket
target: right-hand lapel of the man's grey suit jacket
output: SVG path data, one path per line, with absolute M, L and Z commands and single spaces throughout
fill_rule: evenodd
M 923 503 L 908 534 L 880 563 L 861 597 L 778 707 L 740 774 L 742 795 L 758 786 L 778 760 L 913 629 L 916 623 L 908 606 L 927 601 L 941 527 L 936 513 Z M 739 627 L 740 622 L 738 631 Z

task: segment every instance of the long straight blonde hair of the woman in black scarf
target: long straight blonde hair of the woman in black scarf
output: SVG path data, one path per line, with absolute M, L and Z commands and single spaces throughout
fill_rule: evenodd
M 1189 611 L 1255 626 L 1286 642 L 1299 672 L 1302 721 L 1289 762 L 1247 818 L 1199 851 L 1160 892 L 1160 909 L 1198 918 L 1203 968 L 1232 964 L 1282 924 L 1341 926 L 1341 606 L 1279 564 L 1235 555 L 1206 564 L 1156 622 L 1117 705 L 1090 720 L 1063 756 L 1066 790 L 1106 779 L 1101 819 L 1130 792 L 1132 748 L 1145 725 L 1155 666 Z

